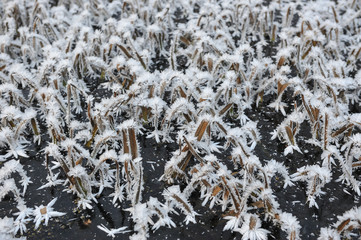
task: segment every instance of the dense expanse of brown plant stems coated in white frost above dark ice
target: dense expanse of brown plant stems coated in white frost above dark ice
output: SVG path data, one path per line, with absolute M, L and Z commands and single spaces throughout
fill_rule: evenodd
M 267 239 L 263 222 L 300 239 L 274 194 L 276 175 L 284 188 L 304 181 L 309 207 L 336 169 L 340 187 L 360 195 L 361 114 L 350 109 L 361 93 L 360 11 L 355 0 L 1 1 L 0 200 L 12 196 L 19 210 L 0 219 L 1 238 L 63 215 L 55 199 L 26 204 L 33 142 L 43 147 L 43 188 L 64 185 L 80 209 L 111 190 L 115 206 L 128 206 L 132 239 L 175 227 L 175 213 L 197 223 L 189 199 L 198 191 L 242 239 Z M 265 134 L 284 155 L 304 150 L 302 125 L 321 158 L 299 159 L 296 172 L 260 159 L 264 136 L 247 113 L 264 104 L 283 119 Z M 158 176 L 168 187 L 149 199 L 140 135 L 178 146 Z M 350 236 L 360 215 L 339 216 L 320 239 Z

